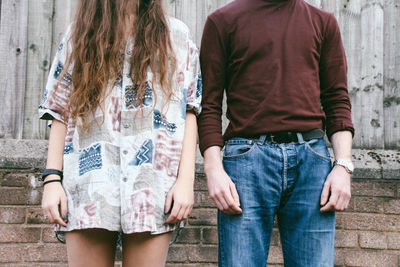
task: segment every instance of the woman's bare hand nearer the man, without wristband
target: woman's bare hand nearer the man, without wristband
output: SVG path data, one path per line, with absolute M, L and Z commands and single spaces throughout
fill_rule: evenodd
M 193 174 L 194 175 L 194 174 Z M 170 213 L 167 223 L 177 223 L 186 220 L 192 212 L 194 203 L 193 179 L 177 179 L 168 192 L 164 212 Z

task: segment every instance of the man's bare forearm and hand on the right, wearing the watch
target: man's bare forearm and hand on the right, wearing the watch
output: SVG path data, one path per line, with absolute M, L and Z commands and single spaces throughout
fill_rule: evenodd
M 352 133 L 339 131 L 331 137 L 335 159 L 351 161 Z M 351 174 L 345 167 L 335 165 L 328 175 L 321 194 L 321 211 L 344 210 L 351 198 Z M 328 201 L 329 200 L 329 201 Z

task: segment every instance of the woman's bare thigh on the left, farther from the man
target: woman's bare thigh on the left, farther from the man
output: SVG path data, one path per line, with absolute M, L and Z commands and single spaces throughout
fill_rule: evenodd
M 66 233 L 69 267 L 113 267 L 117 232 L 85 229 Z

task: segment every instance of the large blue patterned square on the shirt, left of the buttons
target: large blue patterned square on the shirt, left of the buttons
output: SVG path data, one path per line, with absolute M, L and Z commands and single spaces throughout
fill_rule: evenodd
M 97 143 L 82 149 L 79 155 L 79 176 L 92 170 L 101 169 L 103 161 L 101 158 L 101 144 Z

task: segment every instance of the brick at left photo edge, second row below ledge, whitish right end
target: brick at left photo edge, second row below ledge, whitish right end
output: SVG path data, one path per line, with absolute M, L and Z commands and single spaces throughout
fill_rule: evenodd
M 40 204 L 41 197 L 41 190 L 0 188 L 0 205 L 38 205 Z

